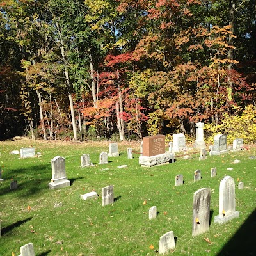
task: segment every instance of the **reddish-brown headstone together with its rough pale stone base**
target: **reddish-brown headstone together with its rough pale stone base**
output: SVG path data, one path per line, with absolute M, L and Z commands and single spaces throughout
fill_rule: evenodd
M 143 137 L 143 156 L 139 157 L 142 167 L 151 167 L 160 164 L 168 164 L 170 152 L 165 152 L 165 136 L 154 135 Z

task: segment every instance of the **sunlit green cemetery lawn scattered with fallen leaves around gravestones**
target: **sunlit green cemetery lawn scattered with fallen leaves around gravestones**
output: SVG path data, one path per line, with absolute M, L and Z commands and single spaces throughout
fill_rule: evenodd
M 42 157 L 19 159 L 12 150 L 33 145 Z M 127 148 L 140 151 L 139 143 L 118 143 L 119 157 L 98 164 L 108 142 L 71 143 L 58 141 L 0 141 L 2 178 L 0 183 L 0 255 L 19 255 L 20 246 L 33 243 L 35 255 L 158 255 L 159 238 L 168 231 L 176 237 L 175 250 L 168 255 L 256 255 L 256 147 L 207 156 L 199 161 L 177 157 L 175 163 L 141 168 L 139 154 L 127 159 Z M 166 148 L 168 150 L 168 148 Z M 80 167 L 80 157 L 90 154 L 95 166 Z M 65 157 L 71 186 L 48 189 L 51 159 Z M 241 163 L 234 164 L 235 159 Z M 117 168 L 126 164 L 127 168 Z M 217 176 L 211 178 L 211 168 Z M 227 170 L 228 167 L 234 168 Z M 105 169 L 105 170 L 104 170 Z M 202 180 L 193 181 L 195 170 Z M 175 176 L 184 184 L 175 187 Z M 218 189 L 225 175 L 236 183 L 236 211 L 240 217 L 220 225 Z M 18 189 L 10 191 L 17 180 Z M 243 181 L 244 189 L 237 189 Z M 115 202 L 102 207 L 101 189 L 114 186 Z M 193 193 L 211 188 L 209 232 L 192 237 Z M 96 191 L 99 198 L 81 200 L 80 195 Z M 54 207 L 62 202 L 62 207 Z M 157 206 L 157 218 L 148 220 L 148 210 Z

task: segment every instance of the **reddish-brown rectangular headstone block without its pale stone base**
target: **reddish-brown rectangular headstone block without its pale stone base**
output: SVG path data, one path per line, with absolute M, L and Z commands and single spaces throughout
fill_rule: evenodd
M 143 137 L 143 156 L 156 156 L 165 153 L 165 136 Z

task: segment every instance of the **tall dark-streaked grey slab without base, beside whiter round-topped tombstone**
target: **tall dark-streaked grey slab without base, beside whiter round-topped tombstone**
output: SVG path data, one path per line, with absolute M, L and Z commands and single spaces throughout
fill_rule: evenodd
M 201 188 L 193 196 L 192 236 L 209 230 L 211 189 Z

